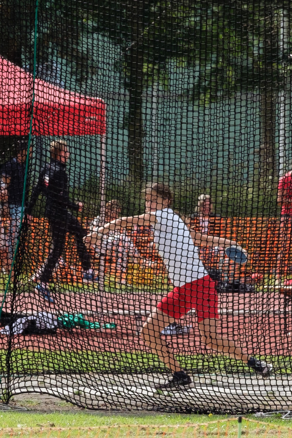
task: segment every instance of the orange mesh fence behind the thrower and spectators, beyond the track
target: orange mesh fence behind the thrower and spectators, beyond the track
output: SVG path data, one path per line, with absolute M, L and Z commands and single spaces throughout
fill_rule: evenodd
M 198 221 L 195 219 L 191 223 L 193 229 L 200 228 Z M 220 218 L 210 219 L 208 233 L 215 236 L 226 237 L 227 239 L 236 240 L 245 247 L 249 253 L 249 263 L 247 265 L 235 265 L 229 263 L 229 273 L 232 278 L 249 275 L 251 272 L 269 274 L 276 267 L 276 259 L 281 247 L 281 265 L 283 269 L 289 270 L 291 262 L 291 245 L 290 235 L 291 226 L 286 233 L 286 245 L 283 248 L 280 240 L 280 219 L 279 218 Z M 162 282 L 167 283 L 166 272 L 163 263 L 158 255 L 155 245 L 153 244 L 153 232 L 149 227 L 133 227 L 127 230 L 128 236 L 132 239 L 134 245 L 140 253 L 140 259 L 135 262 L 129 260 L 127 268 L 127 279 L 130 283 L 146 283 L 151 285 L 157 276 Z M 42 265 L 48 255 L 50 245 L 49 224 L 46 219 L 33 219 L 30 223 L 28 237 L 26 240 L 27 263 L 30 271 L 36 270 Z M 95 258 L 95 266 L 98 268 L 98 257 Z M 210 258 L 208 251 L 203 253 L 202 258 L 207 265 L 216 267 L 218 259 L 214 256 Z M 146 261 L 146 263 L 145 263 Z M 74 245 L 74 238 L 69 234 L 66 240 L 66 251 L 60 260 L 58 273 L 63 279 L 69 282 L 75 282 L 81 279 L 81 264 L 77 257 L 77 250 Z M 116 261 L 114 258 L 107 259 L 107 274 L 118 274 Z

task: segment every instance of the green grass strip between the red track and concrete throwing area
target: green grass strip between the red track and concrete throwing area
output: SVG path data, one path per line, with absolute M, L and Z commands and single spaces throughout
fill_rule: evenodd
M 7 373 L 6 350 L 0 350 L 0 374 Z M 197 354 L 177 356 L 181 366 L 197 374 L 250 373 L 240 361 L 225 356 Z M 291 357 L 268 356 L 276 374 L 292 374 Z M 151 353 L 103 352 L 90 350 L 56 351 L 16 349 L 11 352 L 12 374 L 39 373 L 147 373 L 168 371 L 158 357 Z

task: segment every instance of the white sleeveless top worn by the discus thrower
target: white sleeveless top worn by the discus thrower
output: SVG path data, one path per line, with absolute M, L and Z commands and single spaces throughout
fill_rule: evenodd
M 182 219 L 171 208 L 151 215 L 156 216 L 154 242 L 173 286 L 183 286 L 208 275 Z

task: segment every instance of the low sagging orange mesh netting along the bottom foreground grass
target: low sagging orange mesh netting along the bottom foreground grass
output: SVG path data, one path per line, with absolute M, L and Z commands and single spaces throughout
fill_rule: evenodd
M 291 438 L 292 428 L 285 425 L 243 418 L 238 434 L 237 418 L 176 425 L 113 425 L 96 427 L 13 427 L 0 429 L 0 438 L 207 438 L 207 437 L 279 437 Z

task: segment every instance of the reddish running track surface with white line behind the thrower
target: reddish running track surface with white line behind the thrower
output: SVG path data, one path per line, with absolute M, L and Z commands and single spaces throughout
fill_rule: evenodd
M 102 297 L 103 310 L 112 308 L 120 310 L 143 309 L 150 310 L 155 307 L 162 295 L 144 293 L 116 293 L 106 294 Z M 97 293 L 61 293 L 56 294 L 54 304 L 46 304 L 45 301 L 35 293 L 19 293 L 14 301 L 15 312 L 36 312 L 52 311 L 91 314 L 88 319 L 97 321 L 99 305 Z M 278 292 L 269 293 L 243 293 L 243 294 L 222 294 L 219 296 L 220 309 L 250 309 L 266 311 L 268 309 L 278 310 L 285 308 L 285 299 Z M 11 310 L 11 296 L 7 296 L 4 311 Z M 291 312 L 291 303 L 287 305 L 286 311 Z M 292 355 L 292 318 L 291 314 L 286 317 L 281 315 L 252 315 L 232 316 L 223 314 L 220 316 L 221 330 L 230 339 L 236 340 L 240 345 L 253 354 L 267 355 Z M 134 316 L 106 315 L 104 322 L 113 321 L 117 324 L 116 332 L 99 332 L 94 330 L 60 330 L 57 335 L 34 335 L 15 336 L 12 341 L 12 348 L 25 348 L 29 350 L 50 349 L 50 350 L 91 350 L 96 352 L 147 352 L 148 347 L 134 333 L 136 321 Z M 142 317 L 145 321 L 145 317 Z M 201 343 L 197 330 L 196 316 L 188 314 L 180 321 L 182 324 L 192 324 L 192 331 L 189 335 L 168 337 L 176 353 L 196 354 L 205 353 L 204 345 Z M 7 348 L 7 337 L 0 336 L 0 348 Z

